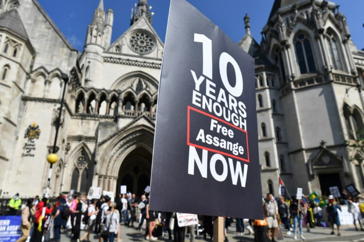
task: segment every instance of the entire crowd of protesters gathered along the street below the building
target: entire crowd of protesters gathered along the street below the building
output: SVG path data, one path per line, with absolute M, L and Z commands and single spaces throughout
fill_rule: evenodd
M 342 204 L 347 205 L 348 211 L 353 214 L 356 230 L 364 231 L 362 225 L 364 204 L 360 205 L 356 198 L 350 198 L 346 192 L 343 192 L 342 195 L 341 200 L 336 201 L 332 195 L 327 199 L 322 199 L 316 193 L 303 196 L 299 200 L 295 197 L 291 197 L 291 199 L 282 196 L 274 198 L 272 194 L 268 194 L 263 199 L 264 221 L 249 220 L 244 226 L 242 218 L 224 218 L 225 240 L 227 240 L 227 229 L 232 222 L 235 222 L 238 235 L 255 233 L 258 241 L 264 241 L 262 239 L 264 237 L 269 241 L 276 241 L 278 234 L 281 233 L 278 229 L 279 224 L 286 230 L 286 235 L 290 236 L 293 232 L 294 240 L 297 239 L 297 236 L 301 240 L 305 240 L 303 228 L 306 228 L 306 233 L 310 233 L 310 229 L 315 226 L 327 227 L 325 221 L 328 221 L 331 226 L 331 234 L 335 234 L 334 226 L 336 225 L 336 235 L 340 236 L 338 210 L 341 211 Z M 52 239 L 59 242 L 62 230 L 77 242 L 89 242 L 91 234 L 99 235 L 99 242 L 114 242 L 114 240 L 121 242 L 121 225 L 141 231 L 142 228 L 144 229 L 144 220 L 146 220 L 145 240 L 157 240 L 157 237 L 165 233 L 168 234 L 169 240 L 173 238 L 176 242 L 182 242 L 188 232 L 190 241 L 193 242 L 195 232 L 197 232 L 195 225 L 179 227 L 176 213 L 152 211 L 145 195 L 137 198 L 135 194 L 131 193 L 118 194 L 114 202 L 109 196 L 88 200 L 86 194 L 74 194 L 72 196 L 60 195 L 56 202 L 48 202 L 45 198 L 40 200 L 36 196 L 34 199 L 28 199 L 25 204 L 22 204 L 19 194 L 16 194 L 9 201 L 9 214 L 14 215 L 20 210 L 23 235 L 18 242 L 26 242 L 29 238 L 30 242 L 42 242 L 45 235 L 46 241 Z M 140 213 L 138 219 L 137 211 Z M 323 216 L 326 216 L 326 219 L 323 219 Z M 210 237 L 212 240 L 213 217 L 198 216 L 198 220 L 203 228 L 200 231 L 203 238 L 208 240 Z M 135 225 L 136 222 L 137 225 Z M 255 232 L 253 232 L 253 227 Z M 85 231 L 82 237 L 80 237 L 81 228 Z

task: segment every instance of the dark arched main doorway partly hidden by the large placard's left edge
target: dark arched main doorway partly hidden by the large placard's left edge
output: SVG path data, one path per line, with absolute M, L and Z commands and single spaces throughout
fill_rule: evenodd
M 152 154 L 143 147 L 133 150 L 121 164 L 116 193 L 120 193 L 121 185 L 126 185 L 128 192 L 141 196 L 150 184 L 151 168 Z

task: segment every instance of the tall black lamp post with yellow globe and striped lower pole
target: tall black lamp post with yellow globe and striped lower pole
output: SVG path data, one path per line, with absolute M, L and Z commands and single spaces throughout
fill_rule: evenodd
M 53 166 L 53 163 L 58 161 L 58 156 L 55 154 L 56 153 L 55 149 L 56 149 L 56 145 L 57 145 L 58 130 L 59 130 L 59 126 L 61 125 L 61 116 L 62 116 L 62 109 L 63 109 L 63 103 L 64 103 L 64 96 L 66 94 L 66 86 L 67 86 L 67 82 L 68 82 L 67 74 L 61 73 L 61 78 L 64 81 L 63 94 L 62 94 L 62 99 L 61 99 L 61 106 L 59 108 L 59 115 L 58 115 L 57 123 L 55 125 L 55 137 L 54 137 L 52 154 L 49 154 L 47 156 L 47 161 L 48 161 L 48 163 L 50 163 L 50 165 L 49 165 L 49 171 L 48 171 L 48 179 L 47 179 L 47 183 L 46 183 L 46 194 L 45 194 L 45 199 L 43 201 L 43 211 L 42 211 L 43 221 L 42 221 L 42 226 L 41 226 L 42 231 L 44 231 L 44 218 L 46 216 L 46 199 L 49 198 L 49 186 L 50 186 L 50 177 L 52 175 L 52 166 Z M 44 241 L 44 240 L 42 240 L 42 241 Z

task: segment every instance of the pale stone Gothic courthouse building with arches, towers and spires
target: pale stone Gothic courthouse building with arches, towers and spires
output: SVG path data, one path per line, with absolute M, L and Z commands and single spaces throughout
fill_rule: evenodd
M 70 81 L 51 196 L 91 186 L 116 193 L 120 185 L 143 193 L 164 48 L 147 0 L 138 0 L 124 33 L 113 33 L 117 9 L 95 2 L 82 52 L 37 0 L 0 4 L 2 192 L 44 192 L 63 72 Z M 364 193 L 364 154 L 345 143 L 363 135 L 364 51 L 351 40 L 345 13 L 325 0 L 275 0 L 260 43 L 242 15 L 244 24 L 237 44 L 255 58 L 263 193 L 277 195 L 279 177 L 290 194 L 302 187 L 327 195 L 351 183 Z M 112 34 L 120 37 L 111 42 Z

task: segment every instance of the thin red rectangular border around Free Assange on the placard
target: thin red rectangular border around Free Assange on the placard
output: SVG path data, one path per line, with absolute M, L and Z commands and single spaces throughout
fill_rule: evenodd
M 238 130 L 240 130 L 242 132 L 245 132 L 245 134 L 246 134 L 246 149 L 247 149 L 247 152 L 248 152 L 248 159 L 244 159 L 244 158 L 241 158 L 241 157 L 238 157 L 238 156 L 230 155 L 230 154 L 225 153 L 225 152 L 221 152 L 221 151 L 218 151 L 218 150 L 214 150 L 214 149 L 211 149 L 211 148 L 207 148 L 207 147 L 203 147 L 203 146 L 200 146 L 200 145 L 190 143 L 189 142 L 189 117 L 190 117 L 189 113 L 190 113 L 190 110 L 193 110 L 193 111 L 195 111 L 197 113 L 208 116 L 208 117 L 210 117 L 210 118 L 212 118 L 214 120 L 221 121 L 221 122 L 223 122 L 223 123 L 225 123 L 227 125 L 230 125 L 233 128 L 236 128 L 236 129 L 238 129 Z M 248 132 L 246 130 L 244 130 L 242 128 L 239 128 L 239 127 L 236 127 L 235 125 L 233 125 L 233 124 L 231 124 L 231 123 L 229 123 L 229 122 L 227 122 L 225 120 L 219 119 L 219 118 L 217 118 L 217 117 L 215 117 L 215 116 L 213 116 L 211 114 L 205 113 L 205 112 L 203 112 L 201 110 L 198 110 L 198 109 L 195 109 L 195 108 L 192 108 L 191 106 L 187 106 L 187 145 L 193 146 L 193 147 L 196 147 L 196 148 L 199 148 L 199 149 L 204 149 L 204 150 L 207 150 L 207 151 L 216 152 L 216 153 L 219 153 L 221 155 L 225 155 L 225 156 L 235 158 L 235 159 L 238 159 L 238 160 L 241 160 L 241 161 L 246 161 L 246 162 L 249 163 L 249 143 L 248 143 Z

